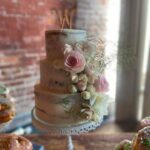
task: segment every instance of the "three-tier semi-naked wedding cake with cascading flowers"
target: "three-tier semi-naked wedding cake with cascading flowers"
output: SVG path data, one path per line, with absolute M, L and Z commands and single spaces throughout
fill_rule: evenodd
M 61 126 L 99 121 L 107 113 L 104 59 L 83 30 L 46 31 L 46 59 L 35 86 L 35 114 Z

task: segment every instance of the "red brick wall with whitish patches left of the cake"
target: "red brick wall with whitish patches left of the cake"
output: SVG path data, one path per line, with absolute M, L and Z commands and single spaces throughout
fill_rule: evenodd
M 72 4 L 65 0 L 0 0 L 0 83 L 15 98 L 17 118 L 30 113 L 34 105 L 38 62 L 45 57 L 44 33 L 59 28 L 54 9 L 61 11 Z

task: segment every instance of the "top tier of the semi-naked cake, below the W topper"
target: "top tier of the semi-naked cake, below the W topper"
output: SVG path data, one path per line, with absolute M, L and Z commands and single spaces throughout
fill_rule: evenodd
M 63 48 L 65 44 L 73 45 L 77 42 L 86 40 L 86 31 L 84 30 L 48 30 L 46 37 L 46 55 L 49 61 L 63 58 Z

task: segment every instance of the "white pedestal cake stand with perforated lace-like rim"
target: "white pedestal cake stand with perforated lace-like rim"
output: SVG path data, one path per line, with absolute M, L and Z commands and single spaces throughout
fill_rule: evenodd
M 36 116 L 35 108 L 32 110 L 32 122 L 33 125 L 42 130 L 48 131 L 51 134 L 66 135 L 68 142 L 68 150 L 73 150 L 73 142 L 71 135 L 79 135 L 80 133 L 86 133 L 92 130 L 95 130 L 98 126 L 101 125 L 103 117 L 100 117 L 98 122 L 87 121 L 86 123 L 77 124 L 77 125 L 68 125 L 68 126 L 59 126 L 56 124 L 47 123 Z

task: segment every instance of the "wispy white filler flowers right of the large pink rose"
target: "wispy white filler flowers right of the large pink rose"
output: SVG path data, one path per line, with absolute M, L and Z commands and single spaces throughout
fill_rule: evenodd
M 105 42 L 101 39 L 88 37 L 87 41 L 77 43 L 74 47 L 83 53 L 88 67 L 95 75 L 103 74 L 112 61 L 111 57 L 105 56 Z

